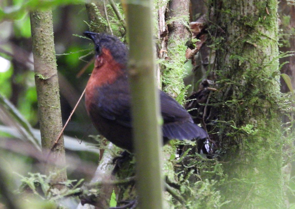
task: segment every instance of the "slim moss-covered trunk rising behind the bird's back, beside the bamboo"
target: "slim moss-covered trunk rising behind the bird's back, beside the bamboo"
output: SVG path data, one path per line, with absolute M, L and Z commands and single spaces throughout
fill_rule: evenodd
M 163 72 L 164 90 L 171 96 L 178 96 L 183 90 L 184 62 L 190 30 L 189 0 L 169 1 L 168 18 L 168 65 Z M 182 101 L 183 102 L 183 101 Z

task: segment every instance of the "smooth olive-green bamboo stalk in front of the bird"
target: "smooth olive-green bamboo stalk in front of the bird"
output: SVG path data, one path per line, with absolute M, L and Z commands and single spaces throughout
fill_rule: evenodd
M 129 74 L 139 208 L 163 208 L 159 95 L 155 76 L 151 0 L 127 1 Z

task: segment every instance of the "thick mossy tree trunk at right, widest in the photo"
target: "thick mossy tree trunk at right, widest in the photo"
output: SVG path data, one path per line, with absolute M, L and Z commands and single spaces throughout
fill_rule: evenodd
M 285 208 L 276 0 L 216 0 L 218 120 L 226 208 Z M 216 126 L 215 126 L 216 130 Z

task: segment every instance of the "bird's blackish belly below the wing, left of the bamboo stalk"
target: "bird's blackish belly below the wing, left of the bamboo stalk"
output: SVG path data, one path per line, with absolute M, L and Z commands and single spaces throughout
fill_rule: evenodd
M 131 128 L 118 124 L 115 120 L 106 119 L 97 112 L 90 112 L 89 115 L 99 134 L 116 146 L 133 151 Z

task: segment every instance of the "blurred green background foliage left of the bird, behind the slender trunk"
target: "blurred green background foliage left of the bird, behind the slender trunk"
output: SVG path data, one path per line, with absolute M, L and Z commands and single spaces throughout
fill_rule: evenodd
M 89 30 L 85 1 L 25 1 L 4 0 L 0 3 L 0 94 L 7 98 L 14 111 L 28 121 L 29 129 L 19 128 L 17 121 L 4 103 L 0 103 L 0 158 L 9 165 L 8 171 L 27 175 L 39 172 L 39 154 L 24 140 L 25 132 L 32 132 L 40 141 L 37 116 L 37 95 L 34 81 L 32 41 L 29 11 L 33 9 L 52 9 L 55 50 L 60 85 L 60 101 L 63 124 L 68 119 L 78 98 L 83 92 L 93 64 L 77 77 L 79 71 L 92 58 L 90 41 L 81 37 Z M 77 35 L 75 35 L 77 34 Z M 82 59 L 83 57 L 83 59 Z M 22 134 L 19 134 L 20 132 Z M 99 151 L 89 135 L 97 132 L 91 125 L 83 100 L 64 131 L 68 155 L 69 179 L 90 179 L 99 161 Z M 30 134 L 27 134 L 30 135 Z M 70 137 L 69 137 L 70 136 Z M 5 156 L 5 157 L 4 157 Z M 85 163 L 87 162 L 87 163 Z M 79 172 L 76 172 L 79 171 Z M 20 177 L 15 175 L 16 179 Z M 19 186 L 21 182 L 17 181 Z M 14 188 L 16 189 L 16 188 Z

